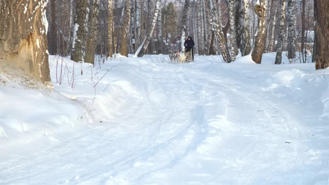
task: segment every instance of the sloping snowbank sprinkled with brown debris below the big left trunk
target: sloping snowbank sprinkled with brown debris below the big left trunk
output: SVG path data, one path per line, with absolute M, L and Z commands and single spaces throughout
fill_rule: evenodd
M 83 108 L 16 68 L 1 64 L 0 150 L 3 155 L 48 146 L 86 123 Z

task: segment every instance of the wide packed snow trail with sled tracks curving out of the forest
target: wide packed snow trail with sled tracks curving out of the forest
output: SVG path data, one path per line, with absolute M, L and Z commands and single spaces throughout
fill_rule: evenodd
M 320 100 L 310 112 L 300 106 L 307 103 L 285 90 L 278 96 L 275 83 L 262 79 L 275 73 L 265 71 L 296 66 L 195 61 L 171 64 L 153 56 L 108 62 L 116 68 L 103 85 L 114 81 L 112 90 L 129 91 L 122 91 L 115 112 L 47 149 L 1 161 L 0 183 L 328 184 L 329 128 L 327 118 L 317 118 Z M 77 77 L 76 91 L 83 81 Z M 325 87 L 312 88 L 312 96 L 321 96 Z

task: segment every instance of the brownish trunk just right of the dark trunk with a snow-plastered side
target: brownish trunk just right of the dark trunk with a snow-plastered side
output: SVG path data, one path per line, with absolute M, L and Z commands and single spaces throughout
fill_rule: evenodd
M 99 30 L 99 2 L 100 0 L 94 0 L 93 10 L 90 16 L 90 33 L 88 35 L 86 44 L 86 56 L 85 62 L 95 63 L 95 50 L 98 41 L 98 30 Z

